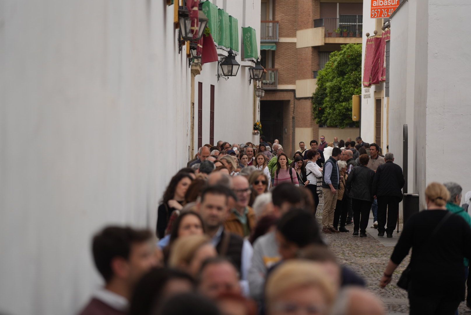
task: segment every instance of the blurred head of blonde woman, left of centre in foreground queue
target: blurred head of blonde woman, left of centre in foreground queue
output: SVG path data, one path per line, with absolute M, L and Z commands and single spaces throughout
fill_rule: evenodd
M 207 235 L 179 237 L 170 249 L 169 266 L 187 272 L 196 278 L 203 262 L 218 256 Z

